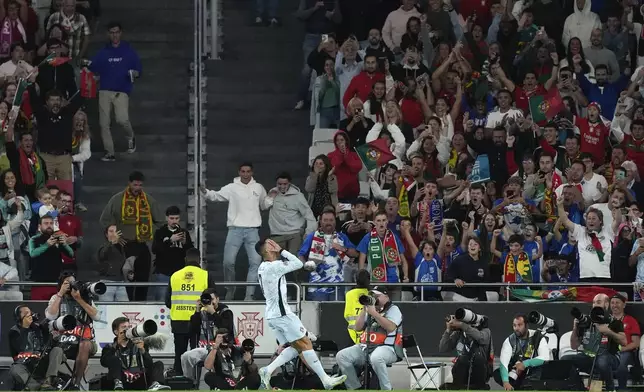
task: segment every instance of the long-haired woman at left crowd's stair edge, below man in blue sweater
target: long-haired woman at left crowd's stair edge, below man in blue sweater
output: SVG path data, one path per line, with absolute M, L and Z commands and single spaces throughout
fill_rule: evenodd
M 72 133 L 72 169 L 74 171 L 74 202 L 77 211 L 87 211 L 82 203 L 83 195 L 83 167 L 85 161 L 92 155 L 89 137 L 89 123 L 87 114 L 79 110 L 74 115 Z

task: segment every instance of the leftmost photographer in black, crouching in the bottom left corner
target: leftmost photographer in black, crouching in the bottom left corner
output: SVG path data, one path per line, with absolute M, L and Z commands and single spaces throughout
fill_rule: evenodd
M 54 347 L 45 353 L 50 335 L 48 324 L 38 324 L 37 315 L 31 312 L 26 305 L 15 309 L 16 325 L 9 330 L 9 351 L 13 364 L 9 370 L 14 383 L 20 388 L 28 387 L 31 390 L 38 388 L 36 378 L 44 377 L 40 390 L 52 390 L 56 385 L 56 377 L 61 364 L 65 359 L 63 350 Z M 46 357 L 42 357 L 45 355 Z M 43 374 L 44 371 L 44 374 Z M 34 373 L 32 377 L 30 374 Z M 25 385 L 26 383 L 30 385 Z

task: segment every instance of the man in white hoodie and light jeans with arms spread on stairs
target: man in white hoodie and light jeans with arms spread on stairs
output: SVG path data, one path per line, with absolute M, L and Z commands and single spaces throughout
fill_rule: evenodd
M 224 281 L 235 281 L 235 261 L 239 248 L 246 248 L 248 255 L 247 282 L 257 283 L 257 268 L 262 262 L 255 251 L 255 244 L 259 242 L 259 227 L 262 225 L 260 209 L 266 210 L 273 205 L 273 198 L 277 191 L 271 190 L 266 194 L 266 189 L 253 179 L 253 165 L 244 162 L 239 165 L 239 177 L 225 185 L 219 191 L 208 190 L 202 185 L 201 192 L 210 201 L 228 202 L 228 236 L 224 244 Z M 228 290 L 226 300 L 234 299 L 234 291 Z M 255 286 L 246 287 L 246 301 L 253 300 Z

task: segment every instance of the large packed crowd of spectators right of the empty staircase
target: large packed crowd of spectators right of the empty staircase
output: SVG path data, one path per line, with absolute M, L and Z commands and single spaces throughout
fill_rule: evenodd
M 618 289 L 641 299 L 640 0 L 300 0 L 296 16 L 295 109 L 332 133 L 314 137 L 306 196 L 283 173 L 256 210 L 307 262 L 297 279 L 368 269 L 464 301 L 499 298 L 478 282 L 635 282 Z M 378 139 L 393 159 L 368 172 L 355 148 Z

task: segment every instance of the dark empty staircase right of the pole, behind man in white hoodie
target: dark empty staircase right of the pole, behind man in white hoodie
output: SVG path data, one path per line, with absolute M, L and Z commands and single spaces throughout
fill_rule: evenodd
M 289 171 L 304 187 L 311 143 L 308 111 L 293 111 L 302 66 L 303 29 L 292 14 L 297 0 L 281 2 L 284 25 L 254 27 L 253 0 L 225 0 L 222 60 L 208 63 L 207 186 L 219 189 L 250 161 L 255 179 L 268 191 L 275 176 Z M 223 279 L 227 203 L 209 203 L 207 211 L 209 269 Z M 267 214 L 262 234 L 267 235 Z M 248 259 L 237 258 L 237 281 L 246 280 Z M 243 298 L 238 290 L 237 298 Z

